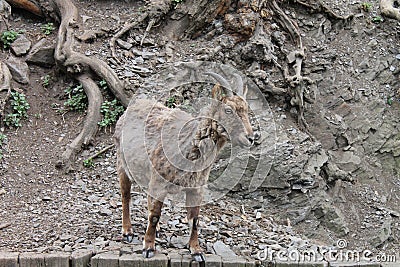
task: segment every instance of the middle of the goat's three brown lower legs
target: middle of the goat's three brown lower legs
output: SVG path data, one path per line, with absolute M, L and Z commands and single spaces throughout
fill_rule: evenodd
M 154 256 L 156 250 L 156 232 L 158 222 L 160 221 L 161 217 L 161 208 L 163 206 L 163 201 L 155 199 L 148 195 L 147 205 L 149 210 L 149 221 L 147 224 L 146 234 L 144 236 L 142 254 L 144 258 L 151 258 Z

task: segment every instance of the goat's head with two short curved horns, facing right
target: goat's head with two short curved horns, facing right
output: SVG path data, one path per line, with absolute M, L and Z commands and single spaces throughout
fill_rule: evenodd
M 249 147 L 254 141 L 254 133 L 249 121 L 249 107 L 246 101 L 247 87 L 241 77 L 237 78 L 236 94 L 233 94 L 229 83 L 216 73 L 207 73 L 217 81 L 211 92 L 213 103 L 213 119 L 218 123 L 220 132 L 233 145 Z M 221 128 L 222 127 L 222 128 Z

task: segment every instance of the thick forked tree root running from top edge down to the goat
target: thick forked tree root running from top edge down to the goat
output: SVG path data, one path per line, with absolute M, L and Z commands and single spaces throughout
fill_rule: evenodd
M 60 161 L 57 163 L 58 167 L 64 167 L 68 170 L 72 158 L 81 149 L 81 146 L 89 144 L 96 135 L 98 122 L 101 120 L 100 107 L 103 97 L 99 87 L 87 73 L 93 71 L 104 78 L 109 88 L 124 106 L 128 105 L 129 97 L 123 91 L 124 86 L 117 75 L 106 63 L 73 51 L 74 28 L 78 26 L 79 16 L 78 10 L 72 1 L 53 0 L 52 2 L 55 5 L 58 16 L 61 18 L 54 57 L 59 66 L 64 66 L 66 71 L 75 76 L 83 85 L 89 102 L 81 133 L 67 146 Z

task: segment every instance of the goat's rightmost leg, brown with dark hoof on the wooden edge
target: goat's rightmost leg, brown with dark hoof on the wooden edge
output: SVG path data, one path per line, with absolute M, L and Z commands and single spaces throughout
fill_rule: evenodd
M 187 218 L 189 224 L 191 224 L 189 249 L 193 260 L 197 262 L 205 261 L 203 249 L 200 247 L 198 237 L 199 213 L 202 198 L 202 192 L 198 190 L 190 190 L 186 192 Z

